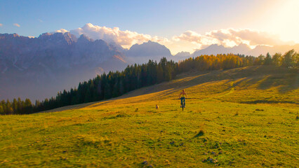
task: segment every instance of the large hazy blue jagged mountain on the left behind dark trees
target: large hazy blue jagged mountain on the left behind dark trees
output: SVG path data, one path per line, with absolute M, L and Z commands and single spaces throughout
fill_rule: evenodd
M 115 46 L 84 35 L 46 33 L 28 38 L 0 34 L 0 46 L 0 87 L 5 88 L 0 90 L 0 99 L 44 99 L 128 65 Z

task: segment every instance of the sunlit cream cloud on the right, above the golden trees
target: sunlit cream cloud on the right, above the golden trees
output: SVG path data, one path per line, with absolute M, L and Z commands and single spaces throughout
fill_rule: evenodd
M 253 48 L 256 45 L 281 45 L 284 43 L 278 35 L 270 34 L 266 31 L 233 28 L 208 31 L 204 35 L 197 34 L 194 31 L 185 31 L 180 36 L 173 36 L 173 40 L 197 43 L 199 48 L 211 44 L 233 47 L 240 43 L 246 43 Z

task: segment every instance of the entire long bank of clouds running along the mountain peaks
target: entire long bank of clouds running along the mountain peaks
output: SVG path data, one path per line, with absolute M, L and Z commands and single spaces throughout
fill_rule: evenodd
M 66 29 L 59 29 L 55 32 L 65 33 L 68 31 Z M 286 44 L 286 42 L 281 41 L 279 36 L 275 34 L 255 29 L 218 29 L 208 31 L 205 34 L 199 34 L 195 31 L 188 30 L 179 36 L 164 38 L 160 36 L 151 36 L 149 34 L 139 34 L 136 31 L 122 31 L 119 27 L 100 27 L 88 23 L 84 25 L 84 27 L 79 27 L 70 30 L 69 32 L 77 37 L 84 34 L 94 40 L 102 39 L 108 43 L 115 42 L 123 48 L 131 48 L 135 43 L 140 44 L 147 41 L 155 41 L 162 45 L 166 45 L 173 54 L 182 50 L 193 52 L 194 50 L 205 48 L 211 44 L 233 47 L 234 45 L 245 43 L 251 48 L 254 48 L 256 45 L 272 46 Z

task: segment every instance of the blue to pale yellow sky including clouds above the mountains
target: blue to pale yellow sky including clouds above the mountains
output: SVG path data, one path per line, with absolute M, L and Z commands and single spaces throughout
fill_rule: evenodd
M 148 40 L 173 54 L 217 43 L 299 43 L 298 0 L 0 1 L 0 33 L 39 36 L 70 31 L 116 41 Z

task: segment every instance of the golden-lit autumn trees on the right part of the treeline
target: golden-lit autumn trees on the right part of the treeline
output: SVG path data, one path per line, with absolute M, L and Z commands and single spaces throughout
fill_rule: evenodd
M 273 56 L 260 55 L 258 57 L 245 56 L 245 55 L 201 55 L 195 58 L 185 59 L 179 62 L 179 72 L 190 71 L 197 69 L 204 70 L 217 70 L 217 69 L 233 69 L 242 66 L 251 65 L 275 65 L 284 66 L 289 69 L 298 71 L 299 69 L 299 53 L 294 50 L 289 50 L 284 55 L 276 53 Z

